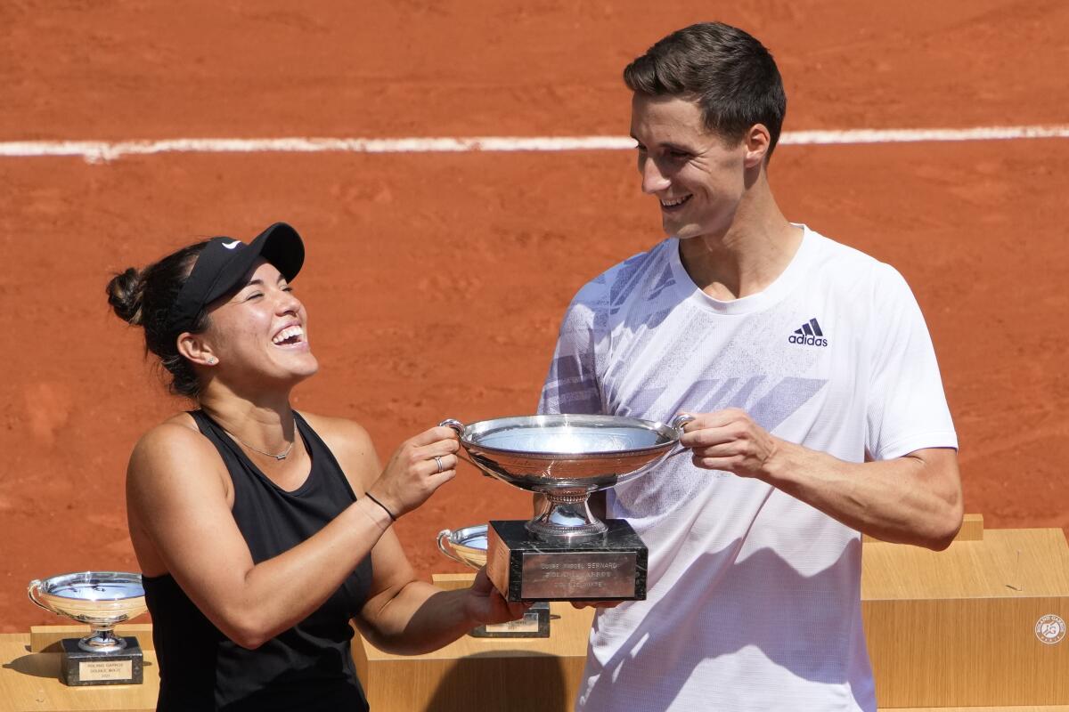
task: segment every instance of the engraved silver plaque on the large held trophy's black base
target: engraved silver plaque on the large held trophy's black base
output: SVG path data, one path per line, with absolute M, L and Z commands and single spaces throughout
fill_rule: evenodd
M 634 597 L 635 558 L 632 552 L 524 552 L 522 597 L 547 600 Z

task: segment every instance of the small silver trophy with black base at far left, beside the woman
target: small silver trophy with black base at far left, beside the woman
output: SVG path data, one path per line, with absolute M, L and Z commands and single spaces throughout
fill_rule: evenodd
M 145 612 L 141 574 L 119 571 L 64 573 L 30 582 L 27 594 L 35 604 L 80 623 L 92 632 L 64 638 L 61 675 L 68 685 L 140 683 L 141 647 L 136 637 L 115 635 L 119 623 Z

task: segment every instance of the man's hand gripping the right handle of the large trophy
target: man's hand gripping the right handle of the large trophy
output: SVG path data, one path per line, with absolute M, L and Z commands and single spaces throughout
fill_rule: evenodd
M 738 408 L 694 415 L 680 444 L 691 448 L 699 468 L 758 479 L 768 477 L 785 445 Z

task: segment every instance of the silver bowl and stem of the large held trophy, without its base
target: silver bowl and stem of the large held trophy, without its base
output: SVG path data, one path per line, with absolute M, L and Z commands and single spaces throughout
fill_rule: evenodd
M 682 427 L 617 415 L 524 415 L 451 427 L 470 462 L 484 473 L 545 502 L 526 527 L 547 540 L 595 538 L 607 529 L 591 512 L 591 493 L 646 474 L 669 456 Z

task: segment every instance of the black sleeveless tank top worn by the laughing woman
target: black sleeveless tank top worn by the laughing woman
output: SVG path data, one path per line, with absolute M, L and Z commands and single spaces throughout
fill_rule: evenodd
M 272 482 L 203 411 L 190 415 L 230 472 L 234 520 L 253 561 L 292 549 L 356 501 L 338 461 L 299 414 L 294 420 L 312 468 L 292 492 Z M 157 710 L 368 710 L 348 621 L 367 600 L 370 556 L 322 606 L 255 650 L 223 635 L 170 574 L 143 582 L 159 664 Z

